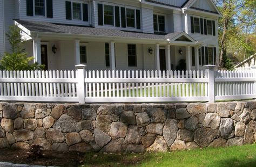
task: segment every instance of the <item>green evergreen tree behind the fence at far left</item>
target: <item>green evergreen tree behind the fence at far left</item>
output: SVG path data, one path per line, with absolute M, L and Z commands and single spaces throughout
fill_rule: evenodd
M 35 70 L 43 69 L 44 65 L 39 65 L 37 62 L 33 63 L 33 57 L 28 57 L 28 53 L 23 49 L 23 43 L 21 39 L 21 30 L 12 25 L 9 27 L 6 37 L 11 45 L 10 53 L 5 52 L 1 55 L 0 68 L 2 70 Z

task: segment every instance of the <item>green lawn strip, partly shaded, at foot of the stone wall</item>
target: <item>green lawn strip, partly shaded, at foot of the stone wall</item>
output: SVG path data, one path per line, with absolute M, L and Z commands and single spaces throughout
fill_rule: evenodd
M 256 166 L 256 144 L 171 153 L 86 154 L 81 166 Z

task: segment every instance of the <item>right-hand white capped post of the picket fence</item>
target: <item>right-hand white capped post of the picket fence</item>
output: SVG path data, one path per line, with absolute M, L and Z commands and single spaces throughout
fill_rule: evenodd
M 214 76 L 214 65 L 207 65 L 204 66 L 205 70 L 208 74 L 208 96 L 209 96 L 209 102 L 213 103 L 215 101 L 215 76 Z

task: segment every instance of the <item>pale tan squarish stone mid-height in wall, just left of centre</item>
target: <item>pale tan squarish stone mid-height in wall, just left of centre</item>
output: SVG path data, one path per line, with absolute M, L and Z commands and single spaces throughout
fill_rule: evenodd
M 109 135 L 113 138 L 123 138 L 126 136 L 127 126 L 123 122 L 112 122 Z

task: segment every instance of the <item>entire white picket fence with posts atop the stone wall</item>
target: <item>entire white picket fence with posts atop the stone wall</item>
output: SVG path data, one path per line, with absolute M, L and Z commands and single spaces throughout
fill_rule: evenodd
M 256 70 L 0 71 L 0 100 L 79 103 L 256 98 Z

